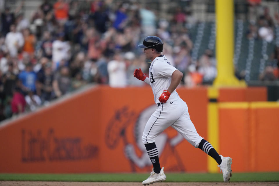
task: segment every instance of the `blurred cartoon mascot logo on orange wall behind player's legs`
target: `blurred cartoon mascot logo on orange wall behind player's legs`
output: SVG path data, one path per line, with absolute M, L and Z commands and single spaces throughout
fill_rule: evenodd
M 155 159 L 150 161 L 146 153 L 146 148 L 142 143 L 142 134 L 147 120 L 156 109 L 156 104 L 153 104 L 136 114 L 129 106 L 124 106 L 115 110 L 115 114 L 106 127 L 104 139 L 106 145 L 113 150 L 117 149 L 120 146 L 119 143 L 123 141 L 124 155 L 128 159 L 133 172 L 136 172 L 137 168 L 144 169 L 155 163 Z M 131 127 L 129 128 L 130 125 L 133 125 L 132 131 L 130 130 Z M 161 162 L 162 164 L 168 163 L 168 170 L 170 171 L 185 171 L 180 155 L 175 148 L 184 138 L 177 132 L 175 137 L 169 137 L 167 131 L 165 130 L 155 139 Z M 134 139 L 129 138 L 128 133 L 133 133 Z M 136 153 L 136 149 L 140 150 L 140 155 Z M 163 151 L 164 153 L 162 153 Z

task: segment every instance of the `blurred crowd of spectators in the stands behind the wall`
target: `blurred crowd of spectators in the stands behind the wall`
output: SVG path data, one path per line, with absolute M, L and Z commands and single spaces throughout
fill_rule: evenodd
M 191 58 L 193 38 L 188 29 L 195 24 L 191 11 L 178 7 L 165 20 L 137 1 L 57 0 L 44 1 L 27 19 L 23 6 L 1 12 L 0 121 L 35 110 L 88 83 L 144 86 L 133 71 L 141 68 L 148 74 L 150 63 L 137 47 L 148 35 L 162 38 L 163 54 L 184 74 L 182 85 L 212 84 L 217 75 L 212 50 L 205 50 L 196 61 Z M 274 23 L 268 14 L 257 21 L 262 20 L 259 29 L 251 24 L 247 37 L 270 42 L 273 37 L 267 33 Z M 275 60 L 278 53 L 277 48 Z

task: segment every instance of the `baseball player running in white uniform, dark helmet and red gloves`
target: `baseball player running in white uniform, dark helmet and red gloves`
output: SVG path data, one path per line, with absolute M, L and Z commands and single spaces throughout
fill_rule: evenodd
M 224 182 L 228 182 L 232 176 L 232 158 L 219 155 L 208 141 L 198 135 L 190 119 L 187 104 L 176 92 L 176 87 L 183 74 L 171 66 L 168 59 L 161 54 L 162 40 L 156 36 L 148 36 L 139 47 L 144 48 L 146 59 L 150 59 L 152 62 L 149 68 L 149 78 L 142 73 L 141 69 L 135 69 L 134 76 L 151 85 L 154 101 L 158 106 L 147 121 L 142 135 L 142 142 L 153 164 L 151 175 L 142 184 L 149 185 L 167 178 L 164 174 L 164 167 L 160 166 L 155 137 L 169 126 L 176 129 L 195 148 L 203 150 L 214 158 L 219 164 L 217 166 L 220 167 L 220 171 L 222 170 Z

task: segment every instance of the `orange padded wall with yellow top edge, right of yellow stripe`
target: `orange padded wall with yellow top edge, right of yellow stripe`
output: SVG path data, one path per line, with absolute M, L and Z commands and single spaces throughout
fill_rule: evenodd
M 233 171 L 279 171 L 279 103 L 219 103 L 220 153 Z

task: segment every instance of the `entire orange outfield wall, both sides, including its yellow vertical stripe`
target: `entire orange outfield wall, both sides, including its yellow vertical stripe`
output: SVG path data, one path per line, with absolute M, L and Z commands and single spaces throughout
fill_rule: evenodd
M 279 104 L 265 102 L 266 88 L 218 89 L 214 102 L 206 87 L 177 91 L 198 133 L 232 157 L 234 171 L 279 171 L 265 156 L 279 153 Z M 156 108 L 150 87 L 97 86 L 58 101 L 0 125 L 0 172 L 150 171 L 141 135 Z M 171 127 L 156 144 L 167 171 L 218 171 Z

